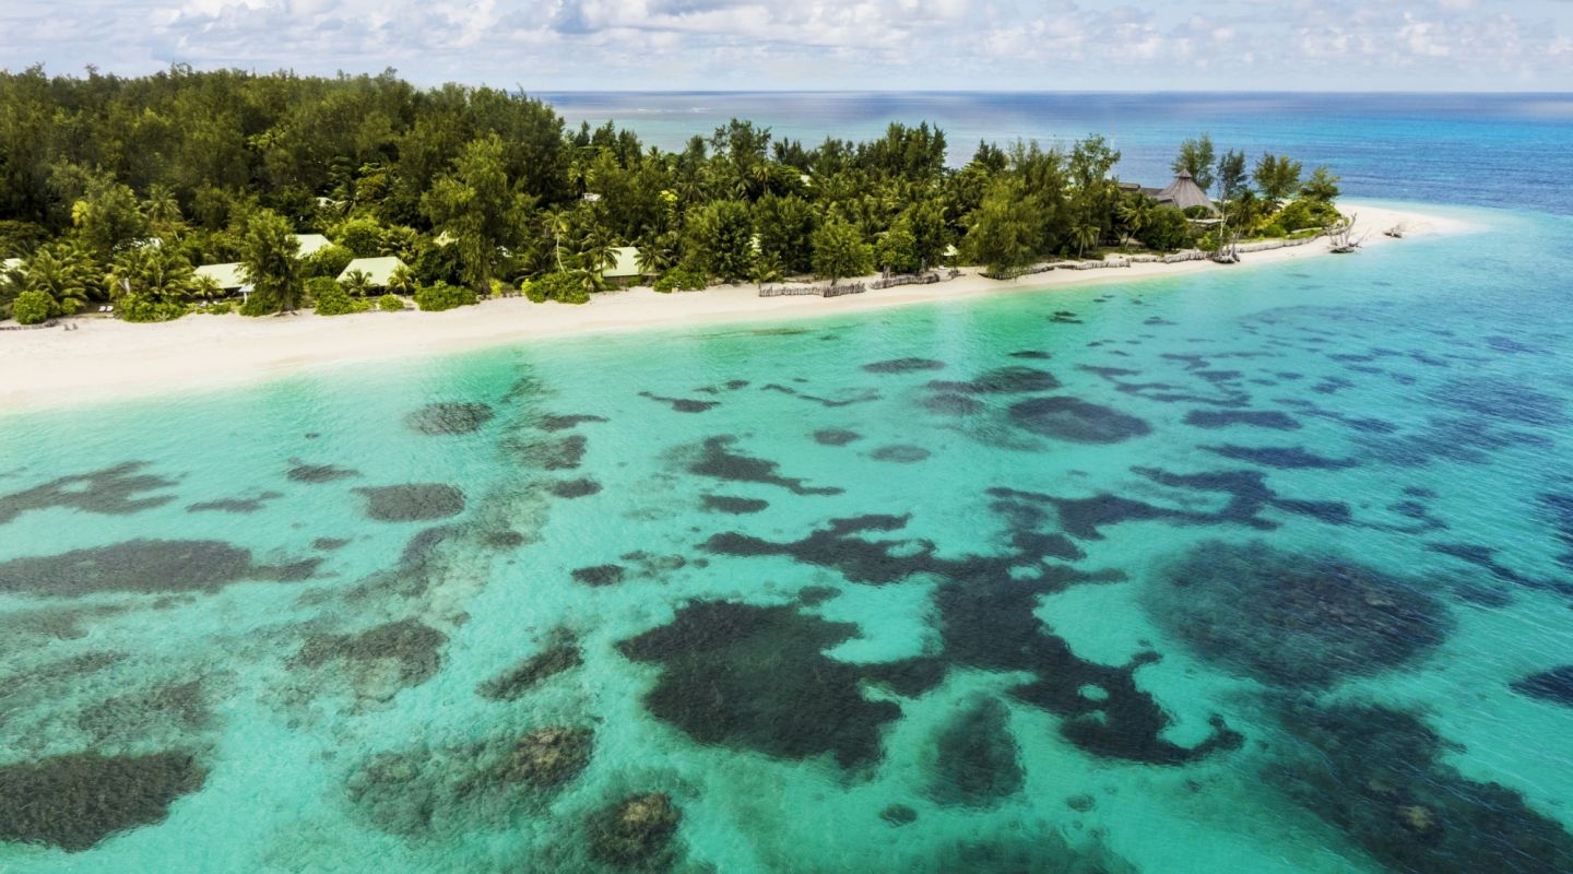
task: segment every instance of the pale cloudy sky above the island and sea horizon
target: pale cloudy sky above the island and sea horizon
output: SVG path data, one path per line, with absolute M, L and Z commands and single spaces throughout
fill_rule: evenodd
M 0 0 L 0 68 L 571 90 L 1573 91 L 1573 0 Z

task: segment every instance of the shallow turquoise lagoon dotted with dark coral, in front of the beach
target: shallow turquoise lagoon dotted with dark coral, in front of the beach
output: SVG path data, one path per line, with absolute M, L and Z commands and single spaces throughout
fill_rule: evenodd
M 0 871 L 1556 871 L 1573 222 L 1453 212 L 3 417 Z

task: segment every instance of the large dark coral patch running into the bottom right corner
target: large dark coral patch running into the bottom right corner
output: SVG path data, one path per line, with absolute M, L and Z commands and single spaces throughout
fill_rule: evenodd
M 1419 717 L 1367 704 L 1287 706 L 1298 740 L 1268 778 L 1391 871 L 1556 874 L 1573 838 L 1497 783 L 1444 759 L 1449 744 Z

